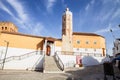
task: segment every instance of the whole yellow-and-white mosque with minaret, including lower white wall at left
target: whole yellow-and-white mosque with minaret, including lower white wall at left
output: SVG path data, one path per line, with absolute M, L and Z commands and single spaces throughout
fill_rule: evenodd
M 72 12 L 69 8 L 66 8 L 62 15 L 61 39 L 23 34 L 18 32 L 18 27 L 12 22 L 0 22 L 1 68 L 28 69 L 43 66 L 44 56 L 52 57 L 55 54 L 66 56 L 60 57 L 61 60 L 69 57 L 69 63 L 74 59 L 74 64 L 76 55 L 82 58 L 105 57 L 105 38 L 95 33 L 73 32 Z M 67 60 L 63 61 L 64 65 L 65 62 L 67 64 Z

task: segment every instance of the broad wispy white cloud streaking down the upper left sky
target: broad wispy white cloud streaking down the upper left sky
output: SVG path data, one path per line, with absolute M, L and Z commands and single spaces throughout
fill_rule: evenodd
M 45 35 L 47 30 L 44 28 L 44 25 L 39 22 L 30 21 L 28 13 L 26 14 L 27 9 L 25 5 L 20 2 L 20 0 L 6 0 L 7 3 L 14 9 L 17 14 L 13 14 L 11 9 L 8 9 L 2 2 L 0 2 L 0 8 L 7 12 L 12 18 L 19 24 L 19 27 L 25 30 L 25 33 L 34 34 L 34 35 Z M 49 7 L 52 6 L 52 3 L 49 4 Z M 30 23 L 31 22 L 31 23 Z M 30 24 L 29 24 L 30 23 Z M 44 32 L 44 34 L 43 34 Z

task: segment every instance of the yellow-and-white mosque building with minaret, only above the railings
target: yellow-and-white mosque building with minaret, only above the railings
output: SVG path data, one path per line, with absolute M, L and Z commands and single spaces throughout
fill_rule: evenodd
M 6 58 L 36 51 L 38 51 L 36 54 L 47 56 L 54 56 L 55 53 L 106 56 L 103 36 L 94 33 L 73 32 L 72 25 L 72 12 L 68 8 L 62 16 L 61 39 L 19 33 L 13 23 L 0 22 L 0 60 L 5 58 L 6 48 Z

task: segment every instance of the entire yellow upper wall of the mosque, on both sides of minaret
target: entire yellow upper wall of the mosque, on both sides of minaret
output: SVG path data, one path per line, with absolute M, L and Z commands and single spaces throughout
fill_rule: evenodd
M 2 32 L 0 34 L 0 46 L 6 46 L 6 42 L 4 40 L 9 42 L 9 47 L 43 50 L 43 37 Z M 78 44 L 77 41 L 80 41 L 80 43 Z M 89 44 L 86 44 L 86 41 L 89 41 Z M 96 44 L 94 44 L 95 41 Z M 62 41 L 56 40 L 55 46 L 61 47 Z M 73 35 L 73 48 L 106 49 L 105 39 L 101 36 Z

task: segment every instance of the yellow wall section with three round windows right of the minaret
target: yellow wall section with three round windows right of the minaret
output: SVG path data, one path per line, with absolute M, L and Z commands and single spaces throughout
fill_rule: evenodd
M 77 41 L 80 41 L 78 44 Z M 89 43 L 86 44 L 86 41 Z M 94 44 L 96 42 L 96 44 Z M 74 48 L 105 48 L 105 39 L 101 36 L 73 35 Z

